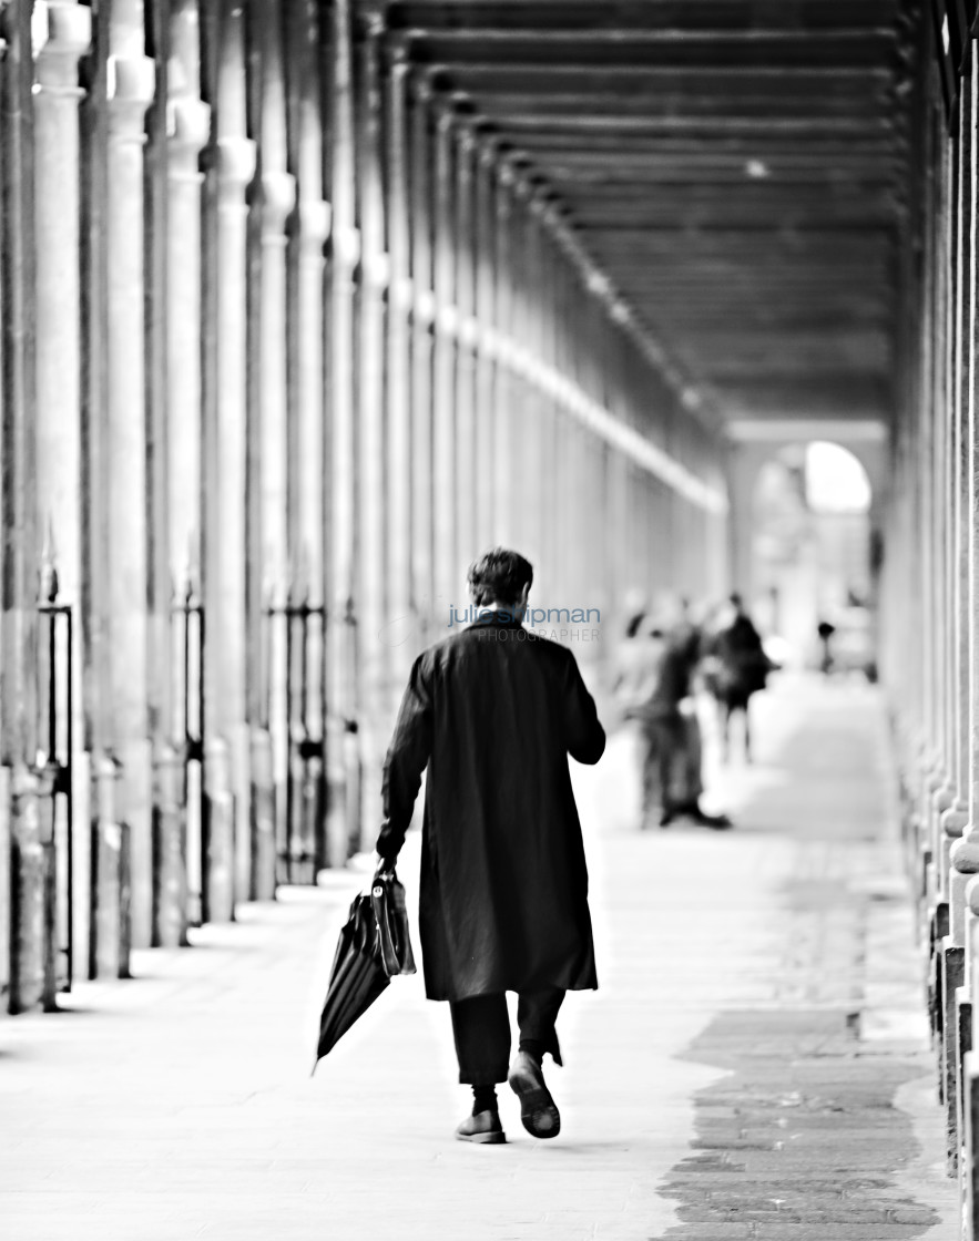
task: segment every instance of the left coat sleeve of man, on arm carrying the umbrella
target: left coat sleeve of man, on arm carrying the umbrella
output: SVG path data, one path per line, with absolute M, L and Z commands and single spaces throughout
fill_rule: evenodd
M 384 823 L 376 849 L 381 858 L 390 861 L 398 856 L 411 824 L 421 773 L 431 755 L 431 695 L 425 675 L 425 656 L 420 655 L 411 669 L 384 759 Z

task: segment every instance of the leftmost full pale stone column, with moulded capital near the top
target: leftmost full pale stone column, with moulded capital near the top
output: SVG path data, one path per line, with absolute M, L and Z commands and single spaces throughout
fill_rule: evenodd
M 82 419 L 80 287 L 78 58 L 92 38 L 92 12 L 72 2 L 34 7 L 34 132 L 37 321 L 37 510 L 50 531 L 60 601 L 75 609 L 72 755 L 78 900 L 75 962 L 86 953 L 88 753 L 82 711 Z M 0 907 L 2 900 L 0 898 Z

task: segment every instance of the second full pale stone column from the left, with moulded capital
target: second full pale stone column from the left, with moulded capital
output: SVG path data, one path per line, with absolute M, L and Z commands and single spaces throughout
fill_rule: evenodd
M 118 4 L 109 24 L 107 192 L 106 484 L 111 746 L 121 764 L 119 823 L 128 831 L 133 943 L 150 942 L 152 774 L 148 692 L 147 427 L 144 360 L 144 115 L 155 66 L 143 53 L 143 5 Z M 114 967 L 112 967 L 114 968 Z

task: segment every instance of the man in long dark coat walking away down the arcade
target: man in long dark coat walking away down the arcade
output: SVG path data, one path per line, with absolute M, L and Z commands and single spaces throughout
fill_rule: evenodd
M 466 1142 L 504 1142 L 496 1083 L 509 1081 L 534 1137 L 560 1117 L 540 1062 L 560 1064 L 567 990 L 598 987 L 588 871 L 568 755 L 596 763 L 605 733 L 574 655 L 522 624 L 533 578 L 494 549 L 470 568 L 473 624 L 411 669 L 384 764 L 378 854 L 404 843 L 427 767 L 420 932 L 429 999 L 449 1000 L 460 1081 L 473 1088 Z M 519 997 L 509 1064 L 507 992 Z

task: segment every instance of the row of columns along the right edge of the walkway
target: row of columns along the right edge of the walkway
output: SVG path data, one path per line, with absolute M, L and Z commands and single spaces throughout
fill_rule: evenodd
M 931 14 L 911 46 L 901 228 L 898 411 L 882 594 L 882 671 L 897 738 L 904 843 L 929 962 L 928 997 L 959 1178 L 962 1236 L 979 1236 L 979 691 L 977 560 L 977 125 L 974 48 L 943 102 Z M 936 55 L 937 53 L 937 55 Z

